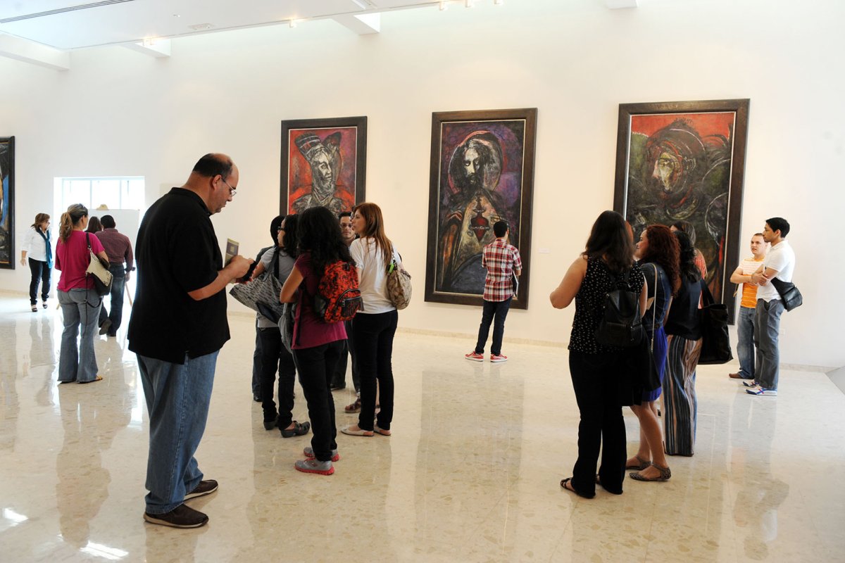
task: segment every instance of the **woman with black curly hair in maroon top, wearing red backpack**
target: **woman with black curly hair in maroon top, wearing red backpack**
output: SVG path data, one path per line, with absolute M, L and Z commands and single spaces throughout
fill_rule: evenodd
M 297 302 L 293 324 L 293 359 L 297 362 L 299 382 L 303 386 L 311 419 L 311 447 L 297 461 L 297 471 L 320 475 L 335 473 L 332 462 L 337 453 L 335 400 L 331 396 L 331 378 L 343 353 L 346 328 L 343 321 L 324 322 L 314 310 L 314 296 L 319 292 L 325 268 L 337 262 L 352 266 L 349 247 L 341 238 L 341 225 L 328 208 L 313 207 L 299 215 L 299 256 L 281 288 L 281 302 Z M 297 289 L 299 295 L 297 296 Z

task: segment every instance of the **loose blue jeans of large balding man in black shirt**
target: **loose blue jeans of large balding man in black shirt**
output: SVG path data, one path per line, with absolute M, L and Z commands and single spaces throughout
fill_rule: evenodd
M 138 355 L 141 384 L 150 414 L 146 512 L 164 514 L 185 500 L 203 473 L 194 452 L 208 419 L 218 352 L 172 364 Z

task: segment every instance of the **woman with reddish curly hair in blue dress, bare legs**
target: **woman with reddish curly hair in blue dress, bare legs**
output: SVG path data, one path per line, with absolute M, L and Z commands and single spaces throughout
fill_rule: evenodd
M 635 258 L 640 261 L 640 268 L 646 277 L 649 300 L 648 309 L 642 314 L 642 323 L 661 385 L 668 344 L 663 322 L 672 303 L 672 296 L 681 284 L 679 254 L 678 239 L 666 225 L 646 228 L 636 245 Z M 640 449 L 625 463 L 626 469 L 638 469 L 637 473 L 630 474 L 631 479 L 666 481 L 672 476 L 663 454 L 662 433 L 657 421 L 656 401 L 661 390 L 661 387 L 657 387 L 654 391 L 645 391 L 642 393 L 642 403 L 631 405 L 631 410 L 640 420 Z

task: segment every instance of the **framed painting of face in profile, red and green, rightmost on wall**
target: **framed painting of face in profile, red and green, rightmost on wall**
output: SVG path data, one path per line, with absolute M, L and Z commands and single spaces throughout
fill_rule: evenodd
M 747 99 L 619 105 L 613 208 L 636 240 L 648 225 L 690 223 L 732 323 L 748 111 Z

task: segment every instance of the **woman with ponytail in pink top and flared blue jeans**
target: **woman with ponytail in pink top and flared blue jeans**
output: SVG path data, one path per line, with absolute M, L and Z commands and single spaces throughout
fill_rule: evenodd
M 94 355 L 94 335 L 100 316 L 101 297 L 94 288 L 94 280 L 85 275 L 90 263 L 88 245 L 94 253 L 108 262 L 108 256 L 95 235 L 85 233 L 88 209 L 74 203 L 62 214 L 56 245 L 56 269 L 62 272 L 58 280 L 58 302 L 62 306 L 64 331 L 58 357 L 59 383 L 99 382 L 97 359 Z M 77 345 L 79 326 L 82 337 Z

